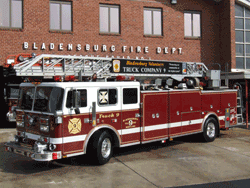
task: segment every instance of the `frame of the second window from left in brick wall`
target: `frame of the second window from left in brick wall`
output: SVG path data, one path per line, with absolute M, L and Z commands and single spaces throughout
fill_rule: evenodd
M 59 4 L 60 5 L 60 15 L 59 15 L 59 25 L 60 29 L 51 29 L 51 15 L 50 15 L 50 10 L 51 10 L 51 4 Z M 71 24 L 70 24 L 70 30 L 63 30 L 62 29 L 62 5 L 70 5 L 70 12 L 71 12 Z M 49 1 L 49 30 L 50 31 L 61 31 L 61 32 L 72 32 L 73 31 L 73 3 L 72 1 L 56 1 L 56 0 L 50 0 Z

